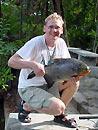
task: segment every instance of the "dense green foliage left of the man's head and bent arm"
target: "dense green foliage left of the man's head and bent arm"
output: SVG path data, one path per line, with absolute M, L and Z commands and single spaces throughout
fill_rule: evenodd
M 9 57 L 23 46 L 26 40 L 43 34 L 41 11 L 37 11 L 42 1 L 34 2 L 33 10 L 32 1 L 27 1 L 30 4 L 29 8 L 27 3 L 17 2 L 19 1 L 7 0 L 1 3 L 3 17 L 0 19 L 0 90 L 2 91 L 7 91 L 10 80 L 15 78 L 7 65 Z

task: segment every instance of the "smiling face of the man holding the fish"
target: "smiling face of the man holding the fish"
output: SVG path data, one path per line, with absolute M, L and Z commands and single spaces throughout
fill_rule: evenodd
M 44 32 L 48 40 L 54 42 L 63 33 L 62 22 L 59 19 L 50 19 L 44 25 Z

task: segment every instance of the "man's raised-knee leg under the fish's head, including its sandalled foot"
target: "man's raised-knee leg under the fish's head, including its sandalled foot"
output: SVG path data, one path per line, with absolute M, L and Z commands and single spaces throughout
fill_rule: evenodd
M 78 87 L 79 87 L 78 79 L 72 79 L 68 82 L 59 84 L 60 99 L 65 104 L 65 107 L 71 101 L 72 96 L 78 90 Z M 54 121 L 58 122 L 60 124 L 63 124 L 64 126 L 70 127 L 70 128 L 76 128 L 77 127 L 76 121 L 71 120 L 71 119 L 67 119 L 66 115 L 64 113 L 62 113 L 58 116 L 55 116 Z

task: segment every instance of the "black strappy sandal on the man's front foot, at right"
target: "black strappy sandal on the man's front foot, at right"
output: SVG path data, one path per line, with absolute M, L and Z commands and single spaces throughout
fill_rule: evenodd
M 54 121 L 69 128 L 76 128 L 77 123 L 74 119 L 67 119 L 65 115 L 55 116 Z

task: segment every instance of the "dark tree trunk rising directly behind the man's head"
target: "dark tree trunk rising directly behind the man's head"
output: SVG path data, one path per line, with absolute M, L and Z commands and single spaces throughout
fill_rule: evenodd
M 66 20 L 64 19 L 62 0 L 52 0 L 52 3 L 53 3 L 54 12 L 57 12 L 59 15 L 61 15 L 63 20 L 64 20 L 64 26 L 63 26 L 64 33 L 62 34 L 62 38 L 65 40 L 67 46 L 69 46 L 69 41 L 68 41 L 68 36 L 67 36 L 67 28 L 66 28 Z

